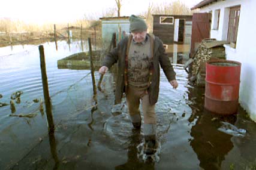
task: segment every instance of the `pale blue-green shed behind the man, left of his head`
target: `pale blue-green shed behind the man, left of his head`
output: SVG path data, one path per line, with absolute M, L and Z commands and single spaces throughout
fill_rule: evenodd
M 102 24 L 102 39 L 103 39 L 103 48 L 107 49 L 112 39 L 113 33 L 116 33 L 116 40 L 119 40 L 119 29 L 122 33 L 129 33 L 129 17 L 104 17 L 100 18 Z

